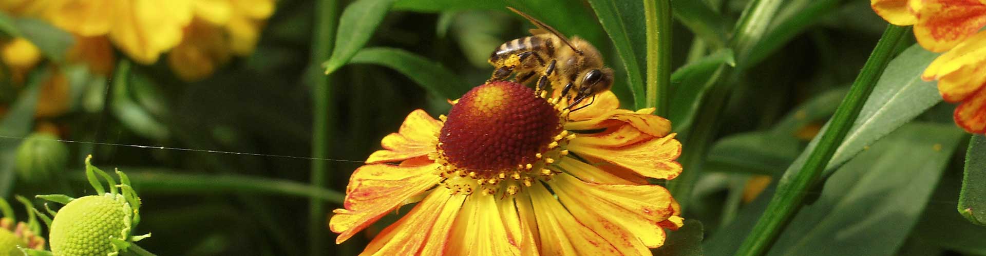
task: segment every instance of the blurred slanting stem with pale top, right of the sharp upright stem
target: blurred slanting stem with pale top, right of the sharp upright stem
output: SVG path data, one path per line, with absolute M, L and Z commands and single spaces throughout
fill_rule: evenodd
M 783 0 L 752 0 L 746 5 L 746 9 L 740 16 L 740 22 L 734 29 L 734 37 L 730 40 L 730 46 L 737 53 L 737 56 L 744 56 L 747 51 L 755 45 L 756 41 L 763 37 L 767 25 L 773 20 L 777 9 Z M 737 63 L 744 59 L 737 59 Z M 691 192 L 695 181 L 702 169 L 702 162 L 705 160 L 705 153 L 712 146 L 712 141 L 719 128 L 722 118 L 723 108 L 726 100 L 729 99 L 730 92 L 737 83 L 730 83 L 739 80 L 741 70 L 734 70 L 728 65 L 720 65 L 714 73 L 714 85 L 709 92 L 702 98 L 703 104 L 698 109 L 692 122 L 692 130 L 685 134 L 684 149 L 681 158 L 678 159 L 685 170 L 681 175 L 668 181 L 668 189 L 671 195 L 681 204 L 681 211 L 685 211 L 686 206 L 691 202 Z M 727 78 L 723 80 L 723 78 Z

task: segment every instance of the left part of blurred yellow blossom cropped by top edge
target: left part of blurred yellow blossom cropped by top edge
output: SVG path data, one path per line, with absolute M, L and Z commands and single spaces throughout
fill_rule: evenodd
M 135 61 L 151 64 L 181 41 L 192 5 L 190 0 L 54 0 L 46 14 L 66 31 L 108 35 Z

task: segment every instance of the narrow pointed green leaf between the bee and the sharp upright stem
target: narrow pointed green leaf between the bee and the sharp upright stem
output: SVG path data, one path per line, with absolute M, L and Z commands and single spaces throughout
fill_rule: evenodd
M 626 68 L 630 92 L 637 108 L 643 108 L 644 76 L 646 66 L 646 51 L 644 42 L 644 5 L 640 1 L 589 0 L 596 11 L 602 29 L 609 34 L 609 39 L 619 54 Z

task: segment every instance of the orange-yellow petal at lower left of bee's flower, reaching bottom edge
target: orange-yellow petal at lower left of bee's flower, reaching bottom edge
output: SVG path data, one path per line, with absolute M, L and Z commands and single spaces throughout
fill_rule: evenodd
M 465 196 L 452 196 L 443 190 L 431 193 L 377 234 L 360 255 L 438 255 L 450 240 L 449 230 L 464 200 Z

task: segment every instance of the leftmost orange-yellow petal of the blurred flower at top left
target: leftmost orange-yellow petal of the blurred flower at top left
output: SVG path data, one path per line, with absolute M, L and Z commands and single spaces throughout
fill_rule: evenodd
M 114 0 L 61 0 L 52 1 L 45 16 L 63 30 L 83 36 L 103 35 L 109 32 L 115 18 Z M 120 3 L 123 4 L 123 3 Z

